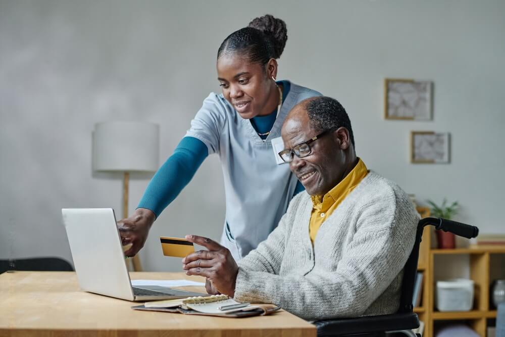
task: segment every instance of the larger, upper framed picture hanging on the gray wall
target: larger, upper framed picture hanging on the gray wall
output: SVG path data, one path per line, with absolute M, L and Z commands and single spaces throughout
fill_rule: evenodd
M 432 119 L 433 82 L 413 79 L 384 80 L 384 118 Z

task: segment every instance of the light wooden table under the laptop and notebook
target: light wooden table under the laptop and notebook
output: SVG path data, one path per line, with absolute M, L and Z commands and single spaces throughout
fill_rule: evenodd
M 132 272 L 132 279 L 192 279 L 184 273 Z M 99 282 L 99 279 L 97 279 Z M 204 287 L 185 287 L 204 292 Z M 221 318 L 130 309 L 134 302 L 81 292 L 73 272 L 0 275 L 0 337 L 11 336 L 316 336 L 316 328 L 286 311 Z

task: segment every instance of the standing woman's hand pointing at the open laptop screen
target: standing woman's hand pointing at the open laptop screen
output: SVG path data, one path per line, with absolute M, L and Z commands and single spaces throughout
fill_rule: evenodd
M 119 220 L 117 225 L 123 246 L 131 245 L 125 251 L 128 257 L 135 256 L 144 247 L 147 233 L 156 220 L 156 215 L 145 208 L 137 208 L 129 218 Z

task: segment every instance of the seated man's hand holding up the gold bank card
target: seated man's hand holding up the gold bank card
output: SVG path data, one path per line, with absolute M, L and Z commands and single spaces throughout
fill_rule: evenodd
M 188 254 L 182 259 L 186 274 L 205 276 L 211 283 L 211 291 L 233 297 L 238 266 L 230 251 L 207 237 L 186 235 L 186 239 L 208 249 Z M 206 290 L 209 292 L 207 282 Z

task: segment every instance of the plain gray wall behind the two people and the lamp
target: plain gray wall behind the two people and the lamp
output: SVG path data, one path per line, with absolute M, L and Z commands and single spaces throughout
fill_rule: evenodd
M 288 25 L 278 78 L 340 100 L 369 168 L 421 202 L 458 200 L 457 219 L 503 232 L 505 2 L 0 0 L 0 258 L 71 260 L 62 207 L 122 214 L 121 175 L 91 170 L 94 123 L 159 123 L 162 163 L 219 90 L 223 38 L 265 13 Z M 434 120 L 383 120 L 385 77 L 433 80 Z M 410 164 L 411 130 L 450 132 L 451 163 Z M 132 176 L 130 210 L 148 179 Z M 157 237 L 218 239 L 223 219 L 211 156 L 151 230 L 144 268 L 180 270 Z

